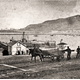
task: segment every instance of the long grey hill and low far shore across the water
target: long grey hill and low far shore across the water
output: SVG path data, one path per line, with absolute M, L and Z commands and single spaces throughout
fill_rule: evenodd
M 25 31 L 29 34 L 79 34 L 80 15 L 56 20 L 47 20 L 39 24 L 30 24 L 25 28 L 14 30 L 0 30 L 0 34 L 18 34 Z

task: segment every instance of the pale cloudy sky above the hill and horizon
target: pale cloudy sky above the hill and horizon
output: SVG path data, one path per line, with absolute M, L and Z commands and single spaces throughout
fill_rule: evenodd
M 20 29 L 80 15 L 80 0 L 0 0 L 0 29 Z

